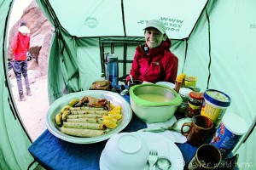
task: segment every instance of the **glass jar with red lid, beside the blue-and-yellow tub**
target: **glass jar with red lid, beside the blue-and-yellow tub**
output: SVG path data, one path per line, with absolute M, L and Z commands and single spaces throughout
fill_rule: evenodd
M 187 110 L 185 111 L 185 116 L 193 117 L 196 115 L 200 115 L 203 99 L 203 93 L 190 92 L 188 99 L 188 107 Z

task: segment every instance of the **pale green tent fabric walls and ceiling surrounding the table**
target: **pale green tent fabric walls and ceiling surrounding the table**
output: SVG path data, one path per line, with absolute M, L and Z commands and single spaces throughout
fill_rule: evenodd
M 20 120 L 9 88 L 7 44 L 9 14 L 14 0 L 0 0 L 0 169 L 27 169 L 34 161 L 32 140 Z M 256 2 L 255 0 L 37 0 L 55 33 L 49 52 L 49 104 L 66 94 L 90 88 L 106 72 L 106 53 L 119 58 L 120 81 L 131 69 L 143 26 L 161 20 L 178 58 L 178 74 L 197 77 L 204 92 L 228 94 L 226 112 L 247 122 L 247 133 L 233 150 L 241 169 L 256 167 Z M 68 12 L 67 12 L 68 11 Z M 254 56 L 254 57 L 253 57 Z M 253 105 L 254 103 L 254 105 Z M 249 169 L 249 168 L 248 168 Z

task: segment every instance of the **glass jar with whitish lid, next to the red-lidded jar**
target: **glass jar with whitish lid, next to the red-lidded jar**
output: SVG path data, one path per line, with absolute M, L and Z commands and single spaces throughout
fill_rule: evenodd
M 177 113 L 184 115 L 184 113 L 188 107 L 188 99 L 189 99 L 190 92 L 192 92 L 192 90 L 189 88 L 180 88 L 179 89 L 179 94 L 180 94 L 180 97 L 183 99 L 183 101 L 182 101 L 181 105 L 179 105 L 177 107 Z

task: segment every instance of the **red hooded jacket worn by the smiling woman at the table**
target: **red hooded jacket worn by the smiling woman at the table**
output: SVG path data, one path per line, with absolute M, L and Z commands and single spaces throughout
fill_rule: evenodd
M 148 48 L 147 44 L 136 48 L 130 72 L 133 79 L 153 83 L 162 81 L 175 83 L 178 59 L 170 51 L 170 39 L 166 38 L 158 48 L 149 49 L 148 54 L 144 47 Z M 126 82 L 129 80 L 130 77 L 126 77 Z

